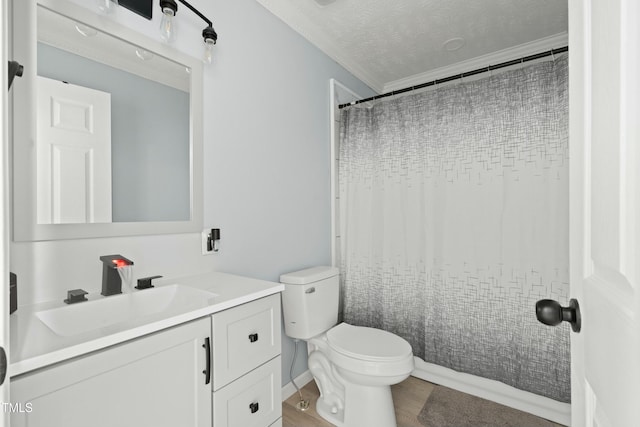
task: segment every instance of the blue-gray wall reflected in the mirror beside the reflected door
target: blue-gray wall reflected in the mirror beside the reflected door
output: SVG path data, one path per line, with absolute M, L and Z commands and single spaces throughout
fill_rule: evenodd
M 188 93 L 44 43 L 38 75 L 111 94 L 114 222 L 190 218 Z

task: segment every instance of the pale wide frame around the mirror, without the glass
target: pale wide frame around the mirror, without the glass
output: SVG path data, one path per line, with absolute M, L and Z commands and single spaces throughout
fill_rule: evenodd
M 190 192 L 187 221 L 38 224 L 36 220 L 36 74 L 38 5 L 191 68 Z M 203 64 L 160 41 L 65 0 L 13 1 L 13 58 L 24 74 L 12 87 L 13 240 L 45 241 L 202 231 L 203 217 Z M 17 84 L 15 84 L 17 83 Z

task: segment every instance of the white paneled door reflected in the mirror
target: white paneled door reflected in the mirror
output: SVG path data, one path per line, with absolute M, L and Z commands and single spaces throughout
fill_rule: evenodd
M 39 224 L 111 222 L 111 94 L 37 78 Z

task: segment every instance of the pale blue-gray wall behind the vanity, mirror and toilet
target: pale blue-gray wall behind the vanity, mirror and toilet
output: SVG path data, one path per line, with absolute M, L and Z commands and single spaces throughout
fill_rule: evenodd
M 72 0 L 85 5 L 83 0 Z M 264 280 L 330 263 L 329 80 L 373 92 L 255 0 L 199 1 L 219 34 L 204 75 L 204 226 L 221 228 L 220 252 L 200 255 L 199 233 L 12 243 L 20 304 L 58 299 L 66 289 L 100 289 L 100 255 L 134 260 L 135 277 L 215 269 Z M 147 21 L 124 8 L 112 17 L 158 39 L 160 13 Z M 176 47 L 202 54 L 202 22 L 183 9 Z M 59 256 L 73 260 L 61 269 Z M 289 382 L 293 342 L 283 339 Z M 306 369 L 302 352 L 294 376 Z

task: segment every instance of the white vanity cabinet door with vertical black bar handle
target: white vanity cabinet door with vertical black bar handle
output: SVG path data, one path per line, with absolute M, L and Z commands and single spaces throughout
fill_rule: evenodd
M 211 427 L 210 337 L 203 318 L 12 378 L 11 425 Z

